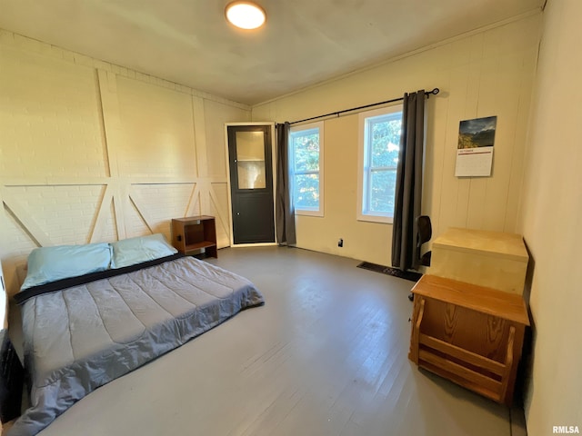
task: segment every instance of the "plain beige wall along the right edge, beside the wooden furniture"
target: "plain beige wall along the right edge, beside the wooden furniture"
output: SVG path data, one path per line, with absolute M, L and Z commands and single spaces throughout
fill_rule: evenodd
M 527 433 L 553 426 L 582 431 L 582 3 L 550 0 L 544 12 L 536 97 L 527 141 L 520 229 L 533 259 L 533 367 Z

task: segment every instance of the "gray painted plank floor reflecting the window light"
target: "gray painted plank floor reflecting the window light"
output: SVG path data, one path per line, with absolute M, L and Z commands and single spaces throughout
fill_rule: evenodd
M 255 282 L 265 306 L 99 388 L 41 436 L 525 434 L 507 407 L 407 360 L 413 282 L 290 248 L 208 262 Z

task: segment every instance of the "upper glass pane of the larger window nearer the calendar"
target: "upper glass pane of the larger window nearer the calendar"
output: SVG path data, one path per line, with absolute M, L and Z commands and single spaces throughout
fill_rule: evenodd
M 372 167 L 393 166 L 398 163 L 401 119 L 372 121 L 369 124 L 370 163 Z

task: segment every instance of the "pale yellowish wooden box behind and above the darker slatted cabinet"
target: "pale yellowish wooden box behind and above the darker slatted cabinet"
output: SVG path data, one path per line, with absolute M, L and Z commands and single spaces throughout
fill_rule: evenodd
M 431 250 L 432 275 L 523 294 L 529 256 L 519 234 L 451 228 Z

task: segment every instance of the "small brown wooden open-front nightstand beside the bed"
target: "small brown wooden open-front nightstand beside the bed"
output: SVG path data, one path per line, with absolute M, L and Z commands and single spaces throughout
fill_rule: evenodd
M 179 253 L 206 253 L 218 257 L 214 216 L 200 215 L 172 220 L 172 244 Z

